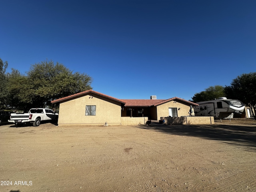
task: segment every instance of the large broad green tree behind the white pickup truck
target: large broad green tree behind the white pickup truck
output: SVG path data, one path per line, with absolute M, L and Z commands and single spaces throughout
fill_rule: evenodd
M 12 106 L 17 102 L 18 108 L 25 110 L 50 106 L 52 100 L 92 89 L 90 76 L 73 73 L 63 64 L 54 64 L 52 60 L 32 65 L 26 76 L 12 69 L 8 80 Z

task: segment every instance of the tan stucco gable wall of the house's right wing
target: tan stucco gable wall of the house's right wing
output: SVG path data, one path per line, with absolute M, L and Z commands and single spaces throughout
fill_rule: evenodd
M 189 104 L 183 104 L 179 100 L 173 100 L 162 105 L 157 106 L 157 120 L 160 120 L 161 117 L 169 116 L 169 108 L 177 108 L 178 117 L 188 116 L 190 110 Z M 180 108 L 180 110 L 179 110 Z

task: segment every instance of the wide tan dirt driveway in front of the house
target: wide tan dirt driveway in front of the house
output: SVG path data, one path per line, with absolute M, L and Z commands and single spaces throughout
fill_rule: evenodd
M 252 192 L 255 176 L 254 120 L 0 126 L 1 192 Z

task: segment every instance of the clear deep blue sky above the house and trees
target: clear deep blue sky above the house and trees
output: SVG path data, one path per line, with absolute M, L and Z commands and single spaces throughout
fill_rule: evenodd
M 256 72 L 255 0 L 1 0 L 8 72 L 53 60 L 119 99 L 191 99 Z

